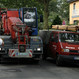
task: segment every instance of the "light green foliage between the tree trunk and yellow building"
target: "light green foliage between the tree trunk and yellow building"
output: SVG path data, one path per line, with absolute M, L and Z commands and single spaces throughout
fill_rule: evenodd
M 55 19 L 55 17 L 59 15 L 61 19 L 66 21 L 68 24 L 69 18 L 69 3 L 67 0 L 51 0 L 49 3 L 49 26 Z

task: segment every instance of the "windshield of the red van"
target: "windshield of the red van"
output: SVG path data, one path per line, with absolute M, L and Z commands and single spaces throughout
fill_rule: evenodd
M 61 42 L 79 43 L 79 34 L 76 33 L 60 33 Z

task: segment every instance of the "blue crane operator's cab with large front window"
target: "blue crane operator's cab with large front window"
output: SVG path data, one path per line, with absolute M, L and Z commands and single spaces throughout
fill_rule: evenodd
M 38 35 L 38 17 L 37 17 L 37 8 L 20 8 L 19 9 L 19 18 L 24 24 L 31 28 L 32 36 Z

